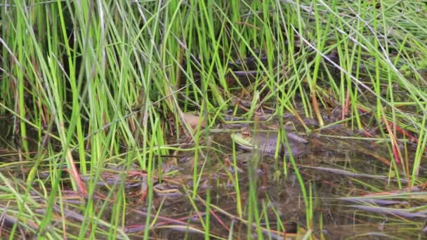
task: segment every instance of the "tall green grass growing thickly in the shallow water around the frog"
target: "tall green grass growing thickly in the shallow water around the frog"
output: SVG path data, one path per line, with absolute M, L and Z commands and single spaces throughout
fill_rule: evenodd
M 370 168 L 356 167 L 351 154 L 329 157 L 340 161 L 328 166 L 334 174 L 355 182 L 354 192 L 346 179 L 329 197 L 422 192 L 427 9 L 419 1 L 12 1 L 0 8 L 4 236 L 327 237 L 322 187 L 308 164 L 294 156 L 265 164 L 256 154 L 242 164 L 230 138 L 213 135 L 239 124 L 274 123 L 282 133 L 324 137 L 319 145 L 345 139 L 369 157 Z M 291 178 L 299 184 L 288 192 L 303 206 L 291 220 L 279 207 L 283 192 L 263 177 L 270 167 L 282 189 Z M 171 196 L 185 206 L 179 214 Z M 411 221 L 417 236 L 421 224 Z

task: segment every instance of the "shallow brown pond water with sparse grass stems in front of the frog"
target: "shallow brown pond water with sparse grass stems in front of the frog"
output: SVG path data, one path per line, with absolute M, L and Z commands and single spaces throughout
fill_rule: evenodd
M 346 128 L 303 135 L 308 140 L 306 152 L 294 159 L 312 204 L 311 222 L 308 222 L 303 190 L 289 156 L 275 159 L 262 152 L 233 149 L 228 132 L 209 136 L 210 148 L 203 149 L 204 159 L 199 156 L 197 178 L 193 175 L 194 151 L 162 157 L 162 168 L 153 176 L 150 206 L 146 173 L 138 171 L 138 167 L 125 172 L 120 167 L 106 165 L 95 189 L 96 211 L 103 209 L 100 218 L 110 220 L 114 202 L 103 206 L 105 196 L 114 192 L 112 186 L 124 182 L 126 211 L 122 226 L 124 234 L 133 239 L 143 236 L 147 215 L 150 222 L 156 220 L 150 225 L 153 238 L 204 237 L 208 193 L 209 233 L 213 238 L 259 239 L 261 234 L 265 239 L 301 239 L 310 229 L 308 224 L 315 236 L 325 239 L 423 236 L 427 218 L 423 199 L 427 199 L 427 193 L 420 186 L 412 189 L 413 195 L 402 195 L 409 192 L 405 190 L 407 180 L 400 173 L 399 185 L 395 175 L 389 177 L 390 154 L 379 140 L 361 138 Z M 208 145 L 203 141 L 200 145 Z M 412 147 L 407 148 L 409 159 L 413 159 Z M 1 171 L 6 173 L 8 169 Z M 426 175 L 426 169 L 421 168 L 420 173 Z M 46 174 L 41 171 L 39 177 L 48 179 Z M 91 180 L 89 176 L 82 179 Z M 193 195 L 195 182 L 197 194 Z M 78 225 L 83 219 L 78 208 L 85 203 L 72 192 L 64 194 L 68 196 L 64 204 L 70 208 L 69 220 Z M 112 199 L 115 197 L 113 194 Z M 44 210 L 37 211 L 42 214 Z M 250 218 L 253 222 L 248 222 Z M 255 218 L 260 221 L 258 228 Z M 13 222 L 6 220 L 6 225 Z M 77 233 L 79 228 L 68 230 Z

